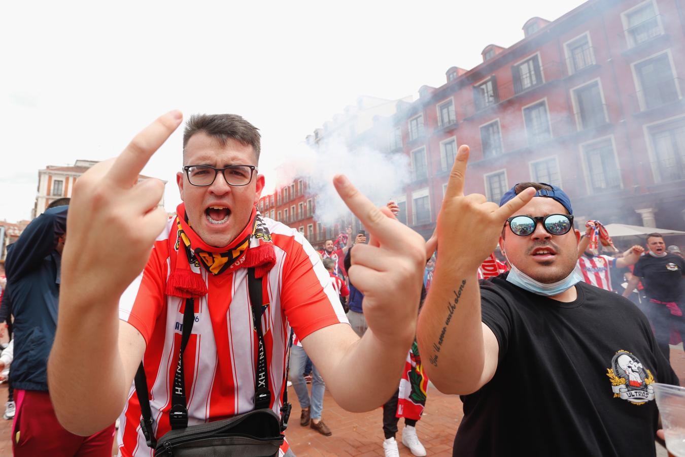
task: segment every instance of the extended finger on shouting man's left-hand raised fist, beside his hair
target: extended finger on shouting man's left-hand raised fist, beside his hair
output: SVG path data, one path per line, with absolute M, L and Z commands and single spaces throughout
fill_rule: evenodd
M 131 143 L 114 160 L 107 175 L 110 180 L 121 186 L 132 186 L 138 179 L 142 168 L 151 156 L 173 133 L 183 120 L 178 110 L 170 111 L 155 119 L 153 123 L 134 136 Z

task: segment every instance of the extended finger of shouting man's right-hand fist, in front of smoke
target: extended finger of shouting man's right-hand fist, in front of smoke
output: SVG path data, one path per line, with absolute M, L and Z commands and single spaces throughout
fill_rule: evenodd
M 401 246 L 401 236 L 397 234 L 397 227 L 404 227 L 396 219 L 388 217 L 371 200 L 366 198 L 345 175 L 336 175 L 333 184 L 340 198 L 345 201 L 347 208 L 359 218 L 360 222 L 373 239 L 384 246 Z

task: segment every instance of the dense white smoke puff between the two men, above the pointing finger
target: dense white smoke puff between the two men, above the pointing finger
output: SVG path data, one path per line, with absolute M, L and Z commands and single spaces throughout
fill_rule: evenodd
M 327 227 L 350 214 L 333 186 L 334 175 L 346 175 L 377 206 L 403 194 L 410 182 L 409 158 L 405 154 L 382 153 L 366 145 L 351 149 L 342 138 L 313 146 L 301 143 L 276 169 L 277 191 L 296 179 L 308 182 L 306 193 L 316 201 L 314 219 Z

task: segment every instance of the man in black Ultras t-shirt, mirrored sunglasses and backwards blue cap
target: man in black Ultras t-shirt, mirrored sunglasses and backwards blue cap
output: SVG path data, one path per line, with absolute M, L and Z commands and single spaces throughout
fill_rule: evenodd
M 427 375 L 462 395 L 453 455 L 654 456 L 652 384 L 678 380 L 645 315 L 574 273 L 580 232 L 560 188 L 517 184 L 499 207 L 464 197 L 468 156 L 460 147 L 447 184 L 417 327 Z M 479 283 L 498 238 L 511 270 Z

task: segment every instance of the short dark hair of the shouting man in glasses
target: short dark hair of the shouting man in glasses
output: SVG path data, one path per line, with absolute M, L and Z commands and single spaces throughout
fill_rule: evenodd
M 238 114 L 193 114 L 186 123 L 183 132 L 183 149 L 186 150 L 190 137 L 203 132 L 225 145 L 227 140 L 234 139 L 255 151 L 257 162 L 261 151 L 259 129 L 245 121 Z

